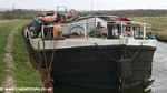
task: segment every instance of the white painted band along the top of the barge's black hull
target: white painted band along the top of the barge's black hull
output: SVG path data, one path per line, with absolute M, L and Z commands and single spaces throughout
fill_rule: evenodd
M 130 38 L 122 39 L 102 39 L 102 38 L 69 38 L 65 40 L 42 40 L 41 38 L 31 39 L 33 49 L 67 49 L 76 46 L 92 45 L 146 45 L 155 46 L 155 40 L 136 40 Z M 45 45 L 43 45 L 45 44 Z

